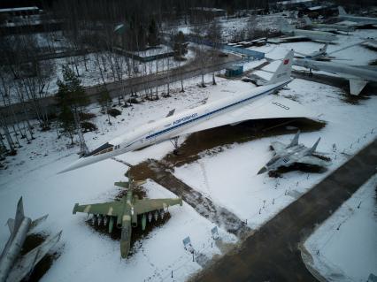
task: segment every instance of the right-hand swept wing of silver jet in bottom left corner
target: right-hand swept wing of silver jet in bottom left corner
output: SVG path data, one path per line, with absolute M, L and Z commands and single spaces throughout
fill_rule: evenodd
M 33 271 L 35 265 L 42 260 L 43 256 L 47 254 L 50 248 L 58 243 L 61 233 L 62 232 L 58 232 L 55 236 L 45 240 L 40 246 L 32 249 L 26 255 L 21 256 L 13 265 L 12 271 L 9 272 L 6 281 L 19 282 L 22 278 L 25 278 L 31 271 Z

